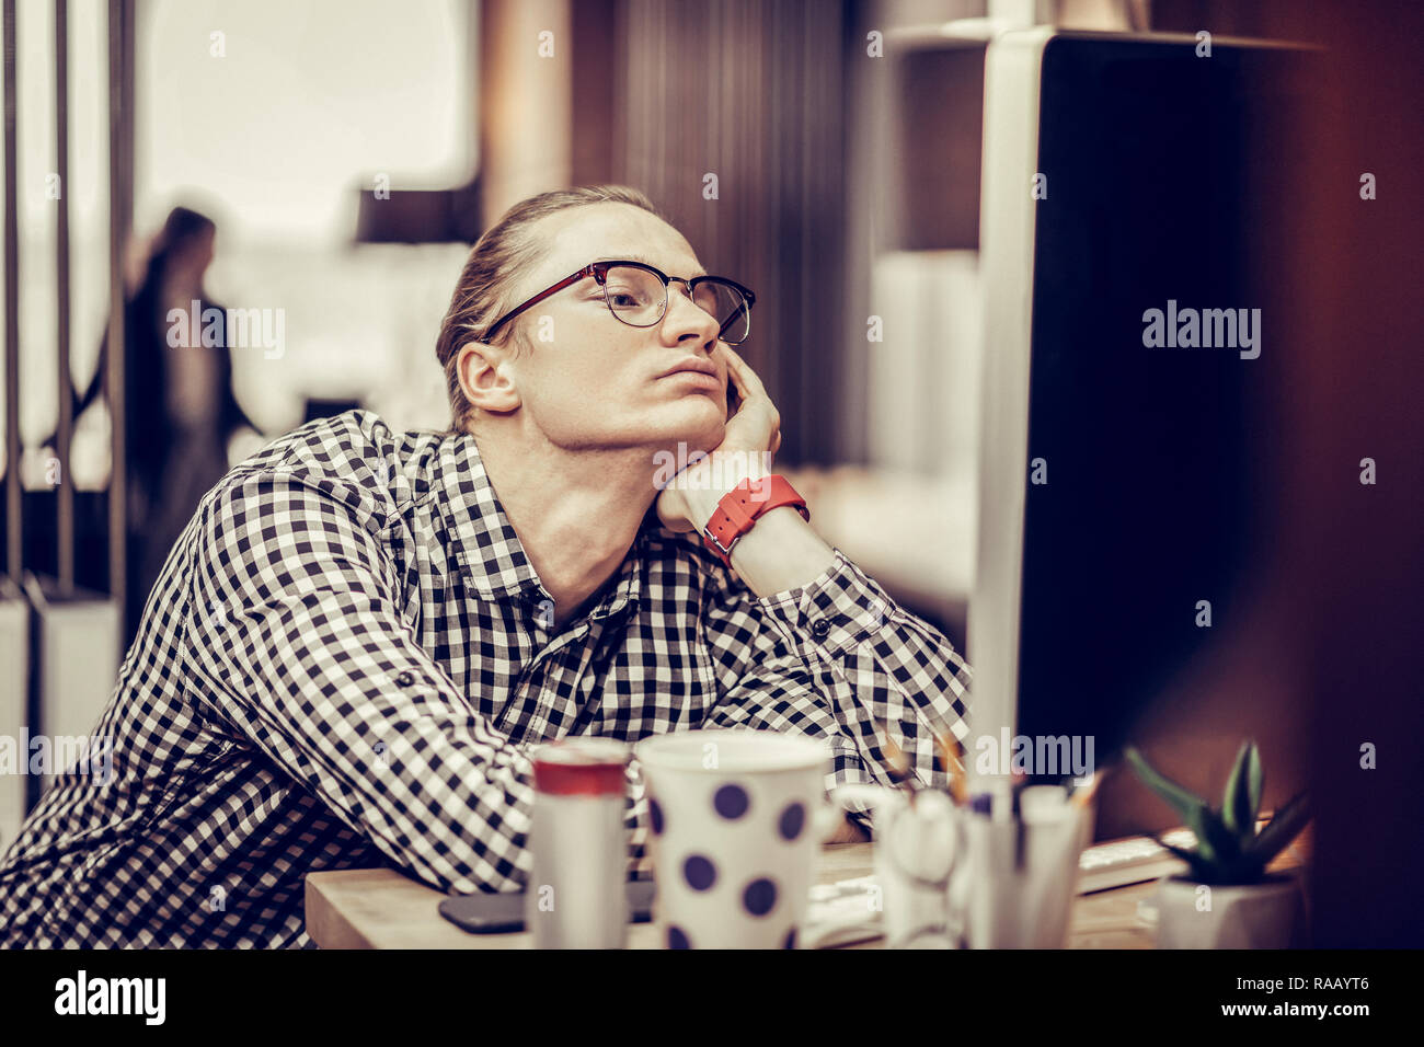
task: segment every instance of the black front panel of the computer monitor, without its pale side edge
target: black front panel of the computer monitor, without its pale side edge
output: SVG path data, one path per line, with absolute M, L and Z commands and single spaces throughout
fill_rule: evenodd
M 1290 308 L 1272 252 L 1293 219 L 1276 189 L 1280 165 L 1302 162 L 1307 63 L 1225 44 L 1047 47 L 1022 734 L 1091 734 L 1104 761 L 1240 627 L 1292 373 L 1272 336 Z

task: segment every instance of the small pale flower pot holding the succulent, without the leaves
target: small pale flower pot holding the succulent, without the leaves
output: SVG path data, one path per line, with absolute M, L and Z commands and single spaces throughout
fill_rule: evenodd
M 1158 887 L 1158 949 L 1290 949 L 1304 903 L 1296 873 L 1246 886 L 1168 877 Z

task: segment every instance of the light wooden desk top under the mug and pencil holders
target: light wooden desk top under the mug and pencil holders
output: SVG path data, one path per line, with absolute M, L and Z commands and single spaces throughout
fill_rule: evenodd
M 822 848 L 819 883 L 869 876 L 873 843 Z M 1136 883 L 1074 899 L 1069 949 L 1151 949 L 1152 930 L 1138 923 L 1138 902 L 1156 890 Z M 534 936 L 470 934 L 440 916 L 439 890 L 394 869 L 343 869 L 306 877 L 306 932 L 322 949 L 531 949 Z M 879 949 L 880 940 L 846 946 Z M 628 927 L 629 949 L 659 947 L 652 923 Z

